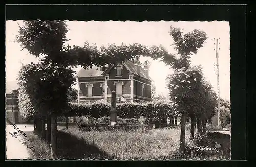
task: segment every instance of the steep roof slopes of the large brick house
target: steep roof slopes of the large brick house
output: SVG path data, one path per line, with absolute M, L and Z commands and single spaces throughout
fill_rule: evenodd
M 127 70 L 130 71 L 130 73 L 132 74 L 136 74 L 140 77 L 143 77 L 143 78 L 146 78 L 146 79 L 149 79 L 149 80 L 152 80 L 150 77 L 147 78 L 145 73 L 144 73 L 144 70 L 143 68 L 140 66 L 140 72 L 137 73 L 136 72 L 136 67 L 134 65 L 134 63 L 130 60 L 128 61 L 125 61 L 123 63 L 124 67 L 127 68 Z M 97 66 L 93 66 L 92 68 L 89 68 L 89 69 L 84 69 L 82 68 L 78 73 L 77 73 L 77 77 L 100 77 L 100 76 L 104 76 L 105 74 L 109 73 L 109 71 L 113 68 L 113 66 L 109 67 L 109 68 L 106 68 L 105 71 L 100 71 L 99 67 Z M 98 70 L 97 70 L 98 69 Z

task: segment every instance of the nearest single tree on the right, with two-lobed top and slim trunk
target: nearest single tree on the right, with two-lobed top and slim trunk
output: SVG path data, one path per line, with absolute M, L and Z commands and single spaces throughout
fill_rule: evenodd
M 180 151 L 185 151 L 185 123 L 189 113 L 197 108 L 198 103 L 193 103 L 202 99 L 197 85 L 201 84 L 202 74 L 198 67 L 190 67 L 190 57 L 196 54 L 206 41 L 206 33 L 194 29 L 192 32 L 183 34 L 180 28 L 170 27 L 170 36 L 173 38 L 173 45 L 178 55 L 173 55 L 172 59 L 162 57 L 162 61 L 174 69 L 174 74 L 167 77 L 168 88 L 170 89 L 170 100 L 174 107 L 181 114 L 181 134 Z M 195 97 L 199 98 L 195 98 Z

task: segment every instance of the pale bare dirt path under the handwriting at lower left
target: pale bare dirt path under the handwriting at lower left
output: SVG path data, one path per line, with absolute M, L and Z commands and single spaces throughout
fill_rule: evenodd
M 25 134 L 33 130 L 33 125 L 16 125 Z M 20 142 L 22 136 L 12 137 L 10 133 L 17 132 L 12 125 L 6 125 L 6 159 L 29 159 L 27 147 Z

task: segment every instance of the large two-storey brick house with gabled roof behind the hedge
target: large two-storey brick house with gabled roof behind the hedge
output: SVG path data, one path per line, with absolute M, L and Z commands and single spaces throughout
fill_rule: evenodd
M 78 74 L 78 103 L 111 102 L 116 91 L 117 103 L 151 101 L 151 78 L 148 63 L 138 59 L 109 67 L 82 68 Z

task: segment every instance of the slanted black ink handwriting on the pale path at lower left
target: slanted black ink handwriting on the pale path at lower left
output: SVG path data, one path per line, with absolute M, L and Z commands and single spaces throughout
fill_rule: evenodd
M 17 138 L 18 136 L 23 136 L 23 139 L 20 139 L 19 142 L 25 145 L 27 149 L 32 149 L 32 151 L 35 152 L 35 146 L 29 145 L 29 142 L 32 142 L 31 139 L 29 139 L 21 129 L 17 128 L 15 124 L 13 124 L 12 127 L 15 129 L 15 131 L 9 132 L 9 134 L 14 138 Z

